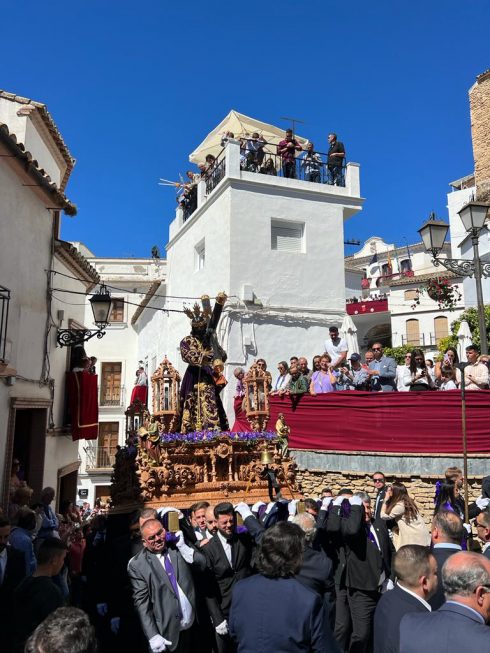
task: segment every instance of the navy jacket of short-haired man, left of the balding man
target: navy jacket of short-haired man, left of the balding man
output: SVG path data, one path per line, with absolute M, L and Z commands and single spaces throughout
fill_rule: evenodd
M 374 653 L 398 653 L 400 622 L 408 612 L 429 610 L 399 586 L 383 594 L 374 613 Z

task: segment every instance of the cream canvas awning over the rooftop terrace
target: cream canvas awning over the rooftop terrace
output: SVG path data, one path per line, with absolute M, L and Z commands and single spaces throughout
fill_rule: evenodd
M 217 157 L 223 149 L 221 147 L 221 138 L 227 131 L 233 132 L 237 139 L 243 138 L 247 134 L 252 134 L 252 132 L 258 132 L 268 143 L 277 145 L 279 141 L 282 141 L 284 138 L 284 133 L 287 128 L 287 126 L 284 128 L 275 127 L 274 125 L 269 125 L 266 122 L 261 122 L 260 120 L 244 116 L 243 113 L 238 113 L 237 111 L 232 110 L 226 118 L 224 118 L 224 120 L 222 120 L 220 124 L 206 136 L 194 152 L 192 152 L 189 156 L 189 161 L 192 163 L 204 163 L 208 154 L 213 154 Z M 295 134 L 294 136 L 301 145 L 305 145 L 308 142 L 307 138 L 298 136 L 298 134 Z M 266 147 L 265 151 L 275 154 L 276 148 Z

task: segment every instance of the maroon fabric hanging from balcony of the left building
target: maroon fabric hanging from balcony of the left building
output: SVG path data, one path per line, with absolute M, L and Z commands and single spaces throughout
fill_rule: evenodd
M 67 372 L 66 387 L 74 440 L 97 440 L 99 435 L 99 403 L 97 374 Z

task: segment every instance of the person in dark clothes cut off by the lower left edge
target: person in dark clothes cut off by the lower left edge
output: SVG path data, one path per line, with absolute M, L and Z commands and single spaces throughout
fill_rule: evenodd
M 13 595 L 14 589 L 26 575 L 24 554 L 8 545 L 10 522 L 0 517 L 0 631 L 2 648 L 12 648 Z

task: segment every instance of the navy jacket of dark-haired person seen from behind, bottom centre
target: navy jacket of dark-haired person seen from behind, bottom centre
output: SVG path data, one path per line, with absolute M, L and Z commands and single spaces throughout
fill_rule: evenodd
M 237 583 L 229 627 L 238 653 L 340 653 L 322 600 L 294 578 Z

